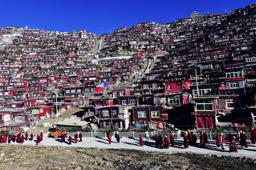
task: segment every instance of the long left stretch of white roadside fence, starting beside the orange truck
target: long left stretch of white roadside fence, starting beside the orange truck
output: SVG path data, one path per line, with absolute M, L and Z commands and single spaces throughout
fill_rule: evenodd
M 68 134 L 71 136 L 71 137 L 74 137 L 75 136 L 75 132 L 68 132 Z M 79 133 L 77 132 L 77 135 Z M 107 134 L 106 132 L 81 132 L 81 134 L 83 135 L 83 137 L 107 137 Z M 110 135 L 111 136 L 116 136 L 116 135 L 119 135 L 120 137 L 126 137 L 126 138 L 139 138 L 140 135 L 142 135 L 142 137 L 145 138 L 145 132 L 110 132 Z M 168 135 L 169 136 L 169 133 L 168 132 L 157 132 L 157 131 L 152 131 L 152 132 L 149 132 L 148 135 L 149 135 L 149 138 L 152 138 L 152 139 L 155 139 L 155 136 L 156 135 Z M 180 137 L 180 135 L 178 133 L 174 133 L 174 137 L 175 139 L 178 139 Z

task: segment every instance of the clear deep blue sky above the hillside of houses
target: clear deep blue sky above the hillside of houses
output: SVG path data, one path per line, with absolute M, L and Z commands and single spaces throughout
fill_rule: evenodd
M 194 10 L 201 15 L 225 13 L 254 3 L 256 0 L 12 0 L 0 3 L 0 26 L 68 32 L 86 29 L 98 35 L 140 22 L 169 23 L 188 18 Z

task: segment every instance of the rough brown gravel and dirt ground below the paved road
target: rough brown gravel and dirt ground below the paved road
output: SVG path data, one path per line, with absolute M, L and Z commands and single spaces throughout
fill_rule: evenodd
M 157 153 L 0 144 L 0 169 L 255 169 L 256 159 L 193 153 Z

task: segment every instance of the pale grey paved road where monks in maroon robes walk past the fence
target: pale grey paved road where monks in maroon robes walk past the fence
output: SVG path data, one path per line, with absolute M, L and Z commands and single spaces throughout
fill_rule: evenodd
M 236 142 L 236 147 L 239 151 L 239 153 L 229 153 L 229 141 L 227 141 L 226 146 L 224 147 L 225 150 L 221 150 L 221 148 L 216 147 L 216 142 L 210 140 L 210 144 L 206 145 L 204 148 L 201 148 L 200 146 L 189 146 L 188 149 L 184 149 L 183 147 L 183 140 L 177 139 L 174 141 L 175 146 L 171 147 L 169 150 L 168 149 L 162 149 L 162 148 L 156 148 L 155 146 L 155 141 L 152 139 L 149 139 L 149 142 L 145 142 L 144 139 L 144 146 L 141 147 L 139 146 L 139 140 L 137 138 L 135 139 L 130 139 L 130 138 L 125 138 L 125 139 L 120 139 L 121 143 L 116 143 L 116 139 L 112 139 L 112 143 L 108 144 L 107 138 L 96 138 L 96 137 L 83 137 L 82 140 L 83 142 L 77 142 L 75 143 L 74 141 L 72 142 L 71 145 L 68 145 L 67 138 L 66 138 L 66 143 L 61 143 L 60 138 L 55 140 L 52 137 L 47 137 L 48 134 L 44 134 L 42 145 L 48 145 L 48 146 L 71 146 L 71 147 L 85 147 L 85 148 L 99 148 L 99 149 L 107 149 L 107 148 L 113 148 L 113 149 L 118 149 L 118 148 L 124 148 L 124 149 L 133 149 L 133 150 L 141 150 L 141 151 L 156 151 L 156 152 L 170 152 L 170 153 L 184 153 L 184 152 L 193 152 L 193 153 L 198 153 L 198 154 L 212 154 L 212 155 L 230 155 L 234 157 L 240 157 L 240 156 L 245 156 L 245 157 L 251 157 L 251 158 L 256 158 L 256 145 L 252 145 L 251 141 L 248 141 L 248 148 L 241 148 L 239 146 L 239 142 Z M 36 136 L 34 136 L 34 139 L 36 139 Z M 12 143 L 12 142 L 11 142 Z M 8 144 L 8 143 L 7 143 Z M 12 144 L 17 144 L 17 143 L 12 143 Z M 25 141 L 23 144 L 28 144 L 28 145 L 35 145 L 35 141 Z M 238 145 L 238 146 L 237 146 Z

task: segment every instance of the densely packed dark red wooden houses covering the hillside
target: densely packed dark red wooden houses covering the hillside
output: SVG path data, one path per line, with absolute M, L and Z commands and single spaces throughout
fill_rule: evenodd
M 0 39 L 17 32 L 0 44 L 2 129 L 54 116 L 56 94 L 58 110 L 83 107 L 99 128 L 256 125 L 256 4 L 99 36 L 6 27 Z M 100 39 L 99 59 L 87 60 Z M 122 86 L 148 60 L 154 67 Z

